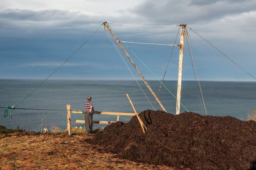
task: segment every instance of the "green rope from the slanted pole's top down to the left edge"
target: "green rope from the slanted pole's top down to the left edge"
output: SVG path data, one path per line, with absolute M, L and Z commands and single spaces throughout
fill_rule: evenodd
M 103 24 L 101 24 L 101 26 L 102 26 Z M 100 27 L 101 27 L 100 26 Z M 100 27 L 98 27 L 98 29 L 100 29 Z M 32 92 L 30 92 L 30 94 L 28 94 L 25 98 L 23 98 L 23 100 L 21 100 L 18 104 L 16 104 L 16 106 L 18 106 L 20 103 L 22 103 L 28 96 L 30 96 L 34 91 L 36 91 L 37 89 L 38 89 L 38 87 L 39 86 L 41 86 L 46 80 L 48 80 L 55 72 L 57 72 L 57 70 L 60 68 L 60 67 L 62 67 L 63 66 L 63 64 L 65 64 L 91 37 L 92 37 L 92 35 L 94 35 L 97 31 L 98 31 L 98 29 L 96 29 L 96 31 L 94 32 L 94 33 L 92 33 L 90 36 L 89 36 L 89 38 L 87 38 L 87 40 L 85 40 L 85 42 L 75 51 L 75 52 L 73 52 L 73 54 L 71 54 L 70 56 L 69 56 L 69 58 L 68 59 L 66 59 L 56 70 L 54 70 L 54 72 L 52 73 L 52 74 L 50 74 L 41 84 L 39 84 L 34 90 L 32 90 Z M 14 107 L 12 108 L 12 109 L 10 109 L 10 111 L 8 112 L 7 111 L 7 113 L 5 113 L 4 115 L 6 115 L 7 116 L 7 114 L 8 113 L 11 113 L 11 111 L 13 110 L 13 109 L 15 109 L 15 107 L 16 107 L 15 105 L 14 105 Z M 6 117 L 6 116 L 4 116 L 4 117 Z M 4 117 L 2 117 L 2 118 L 4 118 Z M 0 120 L 2 120 L 2 118 L 0 119 Z

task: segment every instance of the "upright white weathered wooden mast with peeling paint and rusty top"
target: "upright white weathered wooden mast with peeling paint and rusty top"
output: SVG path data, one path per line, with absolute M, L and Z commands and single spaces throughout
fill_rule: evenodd
M 185 37 L 185 27 L 186 26 L 187 26 L 186 24 L 180 25 L 180 27 L 181 27 L 181 37 L 180 37 L 180 57 L 179 57 L 179 65 L 178 65 L 176 114 L 180 114 L 183 50 L 184 50 L 184 37 Z

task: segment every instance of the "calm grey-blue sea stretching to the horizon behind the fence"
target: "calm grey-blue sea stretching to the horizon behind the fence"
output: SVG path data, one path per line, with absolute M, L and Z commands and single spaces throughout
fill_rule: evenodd
M 84 110 L 88 96 L 96 111 L 133 112 L 126 94 L 132 100 L 137 113 L 146 109 L 161 110 L 143 81 L 139 81 L 145 97 L 135 80 L 47 80 L 27 98 L 43 80 L 7 80 L 0 79 L 0 118 L 4 116 L 6 106 L 16 106 L 11 115 L 0 120 L 6 128 L 40 131 L 41 127 L 53 126 L 65 130 L 67 127 L 66 104 L 71 110 Z M 148 81 L 155 94 L 158 94 L 160 82 Z M 176 113 L 177 81 L 165 81 L 159 92 L 159 100 L 167 112 Z M 200 82 L 207 115 L 232 116 L 246 120 L 248 113 L 256 108 L 255 82 Z M 170 93 L 171 92 L 171 93 Z M 183 81 L 181 92 L 181 112 L 190 111 L 202 115 L 202 110 L 195 81 Z M 41 110 L 42 109 L 42 110 Z M 60 110 L 60 111 L 58 111 Z M 120 117 L 120 121 L 129 121 L 131 117 Z M 71 114 L 71 126 L 82 126 L 75 120 L 83 120 L 82 114 Z M 116 116 L 94 115 L 94 120 L 115 121 Z M 95 124 L 94 128 L 104 125 Z

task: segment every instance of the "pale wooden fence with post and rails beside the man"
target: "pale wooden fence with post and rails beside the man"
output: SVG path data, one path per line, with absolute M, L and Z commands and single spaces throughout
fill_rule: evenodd
M 68 133 L 69 135 L 71 135 L 71 115 L 70 115 L 70 104 L 67 104 L 67 118 L 68 118 Z M 72 113 L 78 113 L 78 114 L 82 114 L 83 111 L 72 111 Z M 94 114 L 102 114 L 102 115 L 117 115 L 117 120 L 119 121 L 119 115 L 123 115 L 123 116 L 134 116 L 136 115 L 135 113 L 123 113 L 123 112 L 97 112 L 94 111 Z M 111 124 L 113 122 L 116 121 L 96 121 L 93 120 L 92 123 L 96 123 L 96 124 Z M 76 120 L 76 123 L 85 123 L 85 120 Z

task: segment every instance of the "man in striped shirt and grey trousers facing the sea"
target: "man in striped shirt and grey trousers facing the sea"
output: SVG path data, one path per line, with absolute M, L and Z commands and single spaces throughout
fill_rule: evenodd
M 91 103 L 91 97 L 87 97 L 85 102 L 85 133 L 90 134 L 92 129 L 92 115 L 94 114 L 94 107 Z

